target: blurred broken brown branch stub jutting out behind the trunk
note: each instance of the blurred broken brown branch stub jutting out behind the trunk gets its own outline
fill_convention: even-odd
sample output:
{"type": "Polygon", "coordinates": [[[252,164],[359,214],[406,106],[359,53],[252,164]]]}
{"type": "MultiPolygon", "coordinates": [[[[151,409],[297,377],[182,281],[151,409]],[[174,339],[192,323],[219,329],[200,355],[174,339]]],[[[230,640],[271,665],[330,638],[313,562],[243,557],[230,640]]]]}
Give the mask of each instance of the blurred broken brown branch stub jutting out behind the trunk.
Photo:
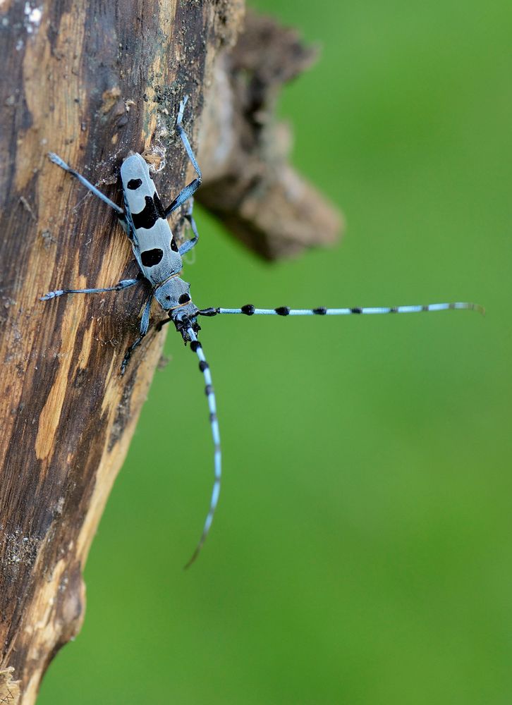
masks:
{"type": "Polygon", "coordinates": [[[249,12],[208,92],[200,140],[205,183],[197,198],[266,259],[329,245],[343,222],[289,166],[291,130],[274,117],[283,85],[316,53],[295,30],[249,12]]]}

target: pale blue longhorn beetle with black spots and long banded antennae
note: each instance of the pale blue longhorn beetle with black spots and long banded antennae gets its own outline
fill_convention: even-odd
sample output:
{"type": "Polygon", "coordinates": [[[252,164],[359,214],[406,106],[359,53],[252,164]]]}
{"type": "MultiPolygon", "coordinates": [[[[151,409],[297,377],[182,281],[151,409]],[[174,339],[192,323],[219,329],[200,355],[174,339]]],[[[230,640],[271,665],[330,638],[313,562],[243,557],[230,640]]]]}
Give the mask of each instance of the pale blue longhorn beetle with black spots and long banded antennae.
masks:
{"type": "Polygon", "coordinates": [[[192,215],[192,208],[193,195],[200,187],[202,180],[199,164],[197,164],[193,149],[190,147],[188,137],[181,125],[187,100],[188,96],[185,96],[180,102],[178,117],[176,118],[176,130],[181,137],[183,146],[195,168],[197,176],[178,193],[176,198],[166,209],[161,205],[157,190],[154,187],[150,175],[149,167],[140,154],[130,152],[128,157],[123,160],[123,164],[121,164],[121,182],[123,184],[123,198],[125,204],[125,210],[123,210],[93,186],[92,183],[87,181],[86,178],[68,166],[63,159],[53,152],[49,153],[49,159],[51,159],[54,164],[57,164],[63,168],[64,171],[70,173],[71,176],[77,178],[80,183],[92,191],[99,199],[114,209],[119,223],[121,223],[121,226],[128,235],[133,254],[140,268],[140,273],[136,278],[122,279],[114,286],[97,289],[58,289],[50,291],[41,297],[42,301],[47,301],[62,296],[63,294],[92,294],[105,291],[120,291],[121,289],[135,286],[145,279],[150,283],[152,291],[147,298],[140,319],[140,335],[135,342],[130,345],[128,350],[126,350],[123,362],[121,362],[121,374],[124,374],[126,371],[126,365],[133,351],[140,345],[149,329],[150,308],[153,297],[156,298],[162,309],[169,315],[169,319],[164,319],[164,321],[157,324],[157,330],[160,330],[164,324],[172,321],[174,326],[176,326],[176,331],[181,333],[185,345],[190,343],[190,349],[193,350],[199,358],[199,369],[205,377],[209,422],[212,428],[214,442],[214,485],[200,540],[192,557],[185,565],[185,568],[188,568],[188,566],[194,562],[202,545],[205,543],[209,529],[212,526],[212,520],[215,509],[217,508],[221,489],[221,443],[219,422],[217,421],[217,405],[214,388],[212,386],[212,375],[209,371],[205,354],[202,351],[201,343],[197,340],[197,333],[200,331],[197,317],[212,317],[218,314],[245,314],[246,316],[348,316],[351,314],[417,313],[423,311],[445,311],[447,309],[470,309],[481,313],[484,312],[484,309],[480,305],[468,302],[339,309],[324,307],[314,309],[290,309],[287,306],[281,306],[275,309],[258,309],[252,304],[248,304],[241,308],[234,309],[214,307],[198,309],[190,298],[190,284],[183,281],[179,276],[182,269],[181,256],[195,247],[199,239],[199,233],[197,232],[197,227],[192,215]],[[169,223],[167,222],[167,218],[186,202],[190,202],[190,206],[184,217],[190,223],[193,238],[185,240],[185,242],[178,247],[169,223]]]}

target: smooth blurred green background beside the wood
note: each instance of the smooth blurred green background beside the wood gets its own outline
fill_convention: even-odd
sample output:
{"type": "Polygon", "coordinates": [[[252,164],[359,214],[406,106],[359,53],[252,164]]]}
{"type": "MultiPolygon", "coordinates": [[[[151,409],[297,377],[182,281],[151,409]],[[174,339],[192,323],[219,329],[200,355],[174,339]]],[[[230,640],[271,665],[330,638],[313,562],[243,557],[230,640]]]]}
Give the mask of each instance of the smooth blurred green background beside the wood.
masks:
{"type": "Polygon", "coordinates": [[[280,111],[348,227],[269,265],[200,213],[195,301],[487,315],[205,320],[224,487],[187,572],[212,445],[171,332],[39,705],[510,704],[511,4],[252,5],[322,47],[280,111]]]}

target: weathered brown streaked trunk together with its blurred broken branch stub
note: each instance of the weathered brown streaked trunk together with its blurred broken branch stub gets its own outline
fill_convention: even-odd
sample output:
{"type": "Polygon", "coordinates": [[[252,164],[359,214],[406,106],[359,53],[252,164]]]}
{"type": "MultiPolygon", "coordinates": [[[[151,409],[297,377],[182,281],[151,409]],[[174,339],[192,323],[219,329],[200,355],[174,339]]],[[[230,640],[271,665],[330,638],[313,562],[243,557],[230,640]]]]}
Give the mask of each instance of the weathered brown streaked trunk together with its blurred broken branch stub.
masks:
{"type": "Polygon", "coordinates": [[[210,96],[202,134],[219,138],[199,145],[204,200],[245,242],[274,257],[331,240],[338,221],[286,166],[282,146],[278,156],[264,148],[276,88],[309,55],[272,25],[269,47],[286,36],[291,49],[278,75],[262,71],[250,41],[262,25],[254,23],[230,56],[242,0],[47,0],[35,8],[6,0],[1,11],[0,700],[27,705],[51,658],[80,630],[87,552],[164,342],[150,333],[121,378],[140,290],[115,305],[102,295],[39,302],[59,286],[108,286],[137,271],[114,214],[47,152],[116,201],[122,158],[144,153],[162,168],[159,192],[171,200],[188,168],[174,129],[178,102],[190,96],[185,122],[194,136],[210,96]],[[242,69],[252,71],[250,92],[240,89],[242,69]],[[295,234],[285,220],[297,223],[295,234]]]}

